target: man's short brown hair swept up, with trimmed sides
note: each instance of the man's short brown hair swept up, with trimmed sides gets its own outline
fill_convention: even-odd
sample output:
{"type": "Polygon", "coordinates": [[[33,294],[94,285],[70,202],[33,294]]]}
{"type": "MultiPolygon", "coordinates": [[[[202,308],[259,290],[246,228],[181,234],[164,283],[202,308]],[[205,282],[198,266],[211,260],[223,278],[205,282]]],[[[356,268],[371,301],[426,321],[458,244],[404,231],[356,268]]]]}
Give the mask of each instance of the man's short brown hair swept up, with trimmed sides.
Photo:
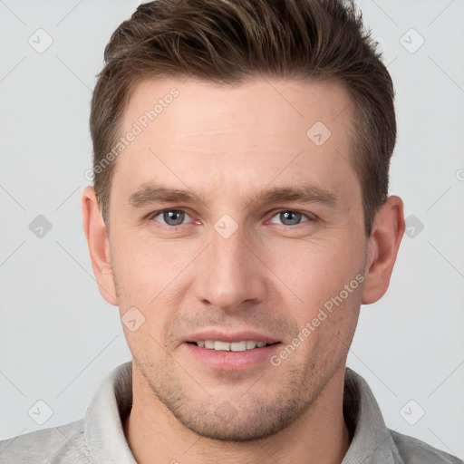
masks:
{"type": "MultiPolygon", "coordinates": [[[[114,162],[102,168],[121,131],[135,86],[156,76],[239,84],[256,76],[340,82],[353,100],[353,163],[364,228],[388,197],[396,140],[391,76],[343,0],[156,0],[140,5],[111,35],[92,96],[94,188],[109,226],[114,162]]],[[[308,128],[309,129],[309,128],[308,128]]]]}

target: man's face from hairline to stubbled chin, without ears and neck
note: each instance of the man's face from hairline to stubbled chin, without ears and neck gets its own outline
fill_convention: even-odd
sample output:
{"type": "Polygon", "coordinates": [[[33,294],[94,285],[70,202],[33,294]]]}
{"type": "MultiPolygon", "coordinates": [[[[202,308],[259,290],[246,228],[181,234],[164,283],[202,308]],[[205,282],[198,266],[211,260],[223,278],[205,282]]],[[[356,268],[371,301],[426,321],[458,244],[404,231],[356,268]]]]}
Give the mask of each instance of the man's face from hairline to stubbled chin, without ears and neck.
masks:
{"type": "Polygon", "coordinates": [[[111,185],[118,304],[147,401],[202,436],[272,435],[344,371],[367,249],[351,116],[330,82],[170,79],[131,97],[121,134],[140,133],[111,185]]]}

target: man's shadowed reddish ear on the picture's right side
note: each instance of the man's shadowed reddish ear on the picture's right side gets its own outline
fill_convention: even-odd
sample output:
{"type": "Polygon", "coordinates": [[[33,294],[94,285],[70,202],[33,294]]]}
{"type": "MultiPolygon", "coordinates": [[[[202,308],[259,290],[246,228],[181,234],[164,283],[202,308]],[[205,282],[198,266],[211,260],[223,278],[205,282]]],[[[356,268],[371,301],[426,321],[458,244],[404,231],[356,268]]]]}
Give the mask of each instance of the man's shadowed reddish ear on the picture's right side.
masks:
{"type": "Polygon", "coordinates": [[[380,300],[387,291],[403,234],[402,200],[391,196],[379,209],[373,221],[364,269],[362,304],[380,300]]]}

